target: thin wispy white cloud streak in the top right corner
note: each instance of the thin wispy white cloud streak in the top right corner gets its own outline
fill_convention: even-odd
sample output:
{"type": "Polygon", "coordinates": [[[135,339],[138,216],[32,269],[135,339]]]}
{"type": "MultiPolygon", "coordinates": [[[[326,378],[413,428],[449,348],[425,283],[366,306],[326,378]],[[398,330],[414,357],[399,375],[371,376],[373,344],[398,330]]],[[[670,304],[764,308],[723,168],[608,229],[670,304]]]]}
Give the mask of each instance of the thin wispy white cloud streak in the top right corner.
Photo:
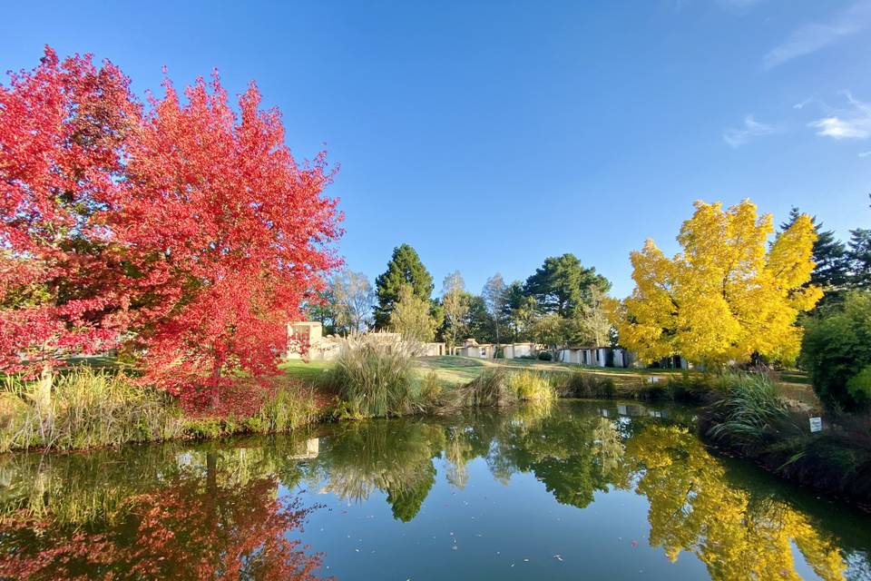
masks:
{"type": "Polygon", "coordinates": [[[839,12],[828,22],[808,23],[798,27],[787,39],[768,51],[763,60],[767,69],[784,64],[797,56],[811,54],[856,34],[871,21],[871,2],[861,0],[839,12]]]}

